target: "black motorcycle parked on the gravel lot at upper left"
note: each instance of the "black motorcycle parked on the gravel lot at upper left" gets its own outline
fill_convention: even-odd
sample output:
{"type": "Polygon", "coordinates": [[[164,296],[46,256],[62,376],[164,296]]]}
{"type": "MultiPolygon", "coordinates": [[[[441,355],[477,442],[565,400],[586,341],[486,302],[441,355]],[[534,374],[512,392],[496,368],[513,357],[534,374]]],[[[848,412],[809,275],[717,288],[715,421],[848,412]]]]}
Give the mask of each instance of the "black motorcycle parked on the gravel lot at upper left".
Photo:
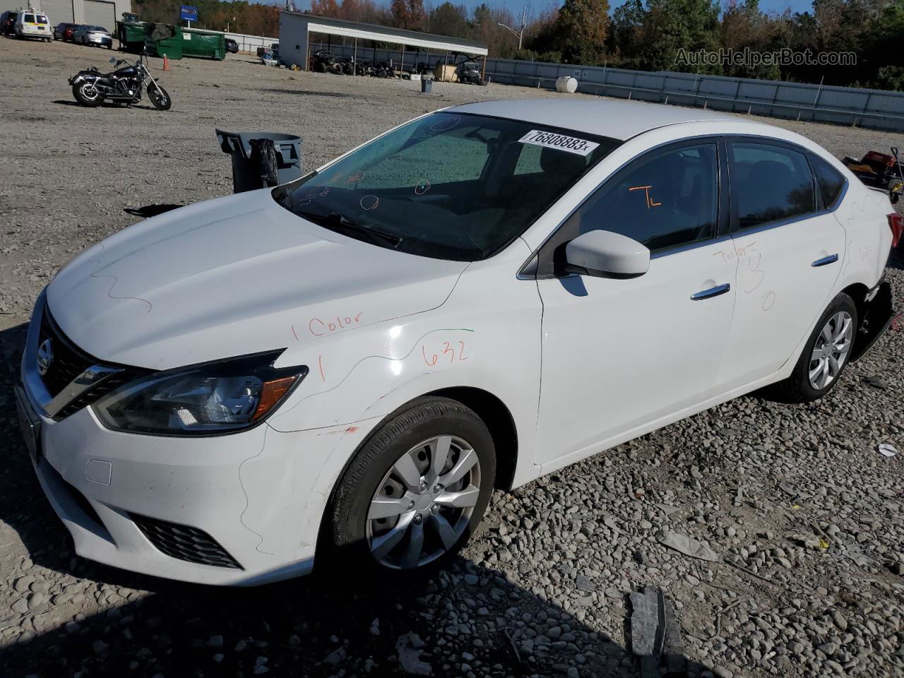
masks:
{"type": "Polygon", "coordinates": [[[124,59],[112,58],[116,71],[101,73],[95,66],[79,71],[69,79],[72,96],[82,106],[99,106],[104,99],[129,106],[141,100],[141,88],[147,83],[147,98],[157,110],[169,110],[173,100],[147,69],[147,53],[141,52],[138,60],[129,64],[124,59]],[[121,64],[127,64],[119,68],[121,64]]]}

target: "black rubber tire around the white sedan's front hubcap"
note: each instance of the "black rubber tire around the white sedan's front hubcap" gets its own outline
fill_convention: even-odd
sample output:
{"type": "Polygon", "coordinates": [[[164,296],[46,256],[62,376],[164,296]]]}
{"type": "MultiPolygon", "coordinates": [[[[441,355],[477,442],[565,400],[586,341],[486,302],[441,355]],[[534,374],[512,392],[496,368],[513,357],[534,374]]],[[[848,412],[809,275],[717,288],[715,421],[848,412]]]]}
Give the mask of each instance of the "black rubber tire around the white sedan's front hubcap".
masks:
{"type": "MultiPolygon", "coordinates": [[[[449,462],[452,461],[450,457],[449,462]]],[[[426,476],[427,472],[423,473],[426,476]]],[[[446,398],[412,400],[393,412],[363,442],[336,484],[333,500],[325,514],[325,532],[320,541],[324,552],[318,553],[318,564],[321,566],[318,570],[327,573],[352,570],[355,572],[354,579],[366,581],[368,578],[361,579],[362,569],[366,569],[370,579],[376,577],[391,582],[400,579],[410,581],[414,574],[428,574],[441,568],[464,546],[483,518],[486,504],[493,492],[494,478],[493,437],[473,410],[457,400],[446,398]],[[440,555],[436,553],[442,549],[434,551],[434,554],[428,556],[434,560],[419,564],[413,569],[394,569],[378,561],[371,552],[368,541],[371,502],[383,479],[400,461],[400,457],[418,447],[420,442],[436,436],[461,438],[476,452],[479,462],[476,467],[479,467],[480,475],[478,498],[470,517],[465,518],[467,523],[463,532],[451,548],[440,555]]],[[[423,524],[425,534],[428,523],[429,520],[423,524]]],[[[407,538],[408,536],[405,539],[407,538]]],[[[433,539],[434,546],[438,545],[437,538],[433,539]]],[[[404,543],[401,542],[400,545],[403,546],[404,543]]]]}

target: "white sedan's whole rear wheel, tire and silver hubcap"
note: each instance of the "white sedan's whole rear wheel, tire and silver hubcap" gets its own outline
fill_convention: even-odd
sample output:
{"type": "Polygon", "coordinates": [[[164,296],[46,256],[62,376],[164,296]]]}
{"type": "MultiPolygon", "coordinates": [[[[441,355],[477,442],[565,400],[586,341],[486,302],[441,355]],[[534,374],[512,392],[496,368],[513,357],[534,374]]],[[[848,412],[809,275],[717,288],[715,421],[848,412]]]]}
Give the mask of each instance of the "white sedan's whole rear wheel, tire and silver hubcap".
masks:
{"type": "Polygon", "coordinates": [[[857,334],[857,306],[846,294],[832,300],[816,323],[804,352],[778,394],[791,402],[810,402],[832,391],[847,366],[857,334]]]}

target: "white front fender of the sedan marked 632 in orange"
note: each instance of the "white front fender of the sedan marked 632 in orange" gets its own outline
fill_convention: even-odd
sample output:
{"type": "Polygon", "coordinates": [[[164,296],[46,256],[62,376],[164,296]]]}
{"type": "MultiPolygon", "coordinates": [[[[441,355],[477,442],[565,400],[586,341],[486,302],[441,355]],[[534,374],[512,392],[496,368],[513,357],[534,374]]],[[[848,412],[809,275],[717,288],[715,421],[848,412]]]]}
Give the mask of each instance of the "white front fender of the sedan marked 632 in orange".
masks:
{"type": "MultiPolygon", "coordinates": [[[[520,264],[529,252],[514,249],[520,264]]],[[[410,400],[469,387],[502,400],[522,441],[519,460],[532,459],[540,297],[535,281],[509,274],[517,264],[494,259],[468,268],[446,303],[431,311],[290,345],[277,366],[306,364],[309,372],[269,425],[279,431],[344,426],[366,433],[410,400]]]]}

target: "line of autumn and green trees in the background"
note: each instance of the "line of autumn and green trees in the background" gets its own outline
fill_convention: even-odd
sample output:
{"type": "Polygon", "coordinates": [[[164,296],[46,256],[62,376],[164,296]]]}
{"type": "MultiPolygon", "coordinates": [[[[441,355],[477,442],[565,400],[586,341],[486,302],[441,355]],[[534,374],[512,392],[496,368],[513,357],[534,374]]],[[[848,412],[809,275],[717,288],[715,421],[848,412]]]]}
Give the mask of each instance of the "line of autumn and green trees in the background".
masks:
{"type": "MultiPolygon", "coordinates": [[[[140,0],[137,0],[140,2],[140,0]]],[[[202,24],[277,35],[274,5],[198,0],[202,24]]],[[[179,0],[145,0],[142,18],[173,23],[179,0]],[[153,19],[148,18],[153,15],[153,19]]],[[[607,65],[640,71],[688,71],[744,78],[904,89],[904,0],[814,0],[807,12],[765,13],[758,0],[564,0],[526,17],[508,7],[424,0],[311,0],[311,14],[485,42],[492,56],[607,65]],[[505,28],[508,26],[509,28],[505,28]],[[509,30],[512,29],[512,30],[509,30]],[[776,59],[687,59],[710,54],[779,54],[776,59]],[[846,54],[821,65],[819,55],[846,54]],[[809,54],[806,60],[801,55],[809,54]]]]}

